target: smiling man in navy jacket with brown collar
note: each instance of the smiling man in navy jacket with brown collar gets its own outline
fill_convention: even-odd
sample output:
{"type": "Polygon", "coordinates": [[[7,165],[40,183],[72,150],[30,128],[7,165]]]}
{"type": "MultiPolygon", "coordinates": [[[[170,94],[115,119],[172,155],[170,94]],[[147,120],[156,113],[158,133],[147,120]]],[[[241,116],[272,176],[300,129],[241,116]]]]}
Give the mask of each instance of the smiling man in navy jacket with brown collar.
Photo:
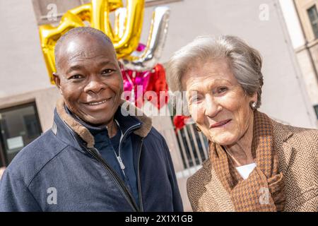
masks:
{"type": "MultiPolygon", "coordinates": [[[[121,100],[110,39],[74,28],[55,47],[63,98],[52,129],[23,148],[0,184],[2,211],[182,211],[167,144],[121,100]]],[[[140,113],[140,112],[139,112],[140,113]]],[[[138,114],[140,115],[140,114],[138,114]]]]}

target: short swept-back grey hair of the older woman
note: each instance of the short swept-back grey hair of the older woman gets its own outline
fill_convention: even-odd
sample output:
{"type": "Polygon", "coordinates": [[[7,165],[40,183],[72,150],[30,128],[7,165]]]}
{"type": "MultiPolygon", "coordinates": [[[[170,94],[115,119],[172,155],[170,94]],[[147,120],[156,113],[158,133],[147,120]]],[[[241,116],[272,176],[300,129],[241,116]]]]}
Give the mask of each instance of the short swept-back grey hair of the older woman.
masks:
{"type": "Polygon", "coordinates": [[[261,106],[261,55],[239,37],[201,36],[179,49],[167,64],[167,83],[170,90],[182,90],[182,76],[199,62],[228,59],[232,73],[247,95],[257,93],[257,107],[261,106]]]}

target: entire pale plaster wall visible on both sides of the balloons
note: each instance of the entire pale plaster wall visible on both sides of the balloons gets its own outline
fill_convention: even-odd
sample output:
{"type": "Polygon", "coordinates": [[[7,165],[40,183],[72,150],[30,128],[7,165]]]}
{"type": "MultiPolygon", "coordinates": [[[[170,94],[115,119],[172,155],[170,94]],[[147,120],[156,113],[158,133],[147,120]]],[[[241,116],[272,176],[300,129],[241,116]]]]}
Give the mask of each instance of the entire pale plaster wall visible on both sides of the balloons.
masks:
{"type": "MultiPolygon", "coordinates": [[[[314,127],[302,78],[277,0],[184,0],[170,4],[167,42],[161,62],[197,35],[237,35],[264,57],[261,111],[295,126],[314,127]],[[269,20],[259,20],[267,4],[269,20]]],[[[152,8],[146,9],[145,20],[152,8]]],[[[40,49],[31,0],[0,0],[0,97],[52,87],[40,49]]],[[[148,31],[145,21],[144,30],[148,31]]],[[[148,34],[144,32],[143,40],[148,34]]]]}

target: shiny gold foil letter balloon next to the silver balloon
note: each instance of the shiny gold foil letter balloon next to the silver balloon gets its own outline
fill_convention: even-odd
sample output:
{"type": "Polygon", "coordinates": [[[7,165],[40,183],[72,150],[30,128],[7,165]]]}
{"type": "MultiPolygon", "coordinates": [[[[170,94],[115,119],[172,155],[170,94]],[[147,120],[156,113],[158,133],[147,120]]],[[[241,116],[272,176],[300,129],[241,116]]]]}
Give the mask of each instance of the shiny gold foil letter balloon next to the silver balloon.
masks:
{"type": "Polygon", "coordinates": [[[70,11],[82,20],[88,20],[92,28],[105,32],[114,44],[117,57],[122,58],[134,52],[138,47],[145,0],[127,0],[126,4],[124,23],[119,24],[118,20],[115,20],[115,32],[110,23],[110,12],[122,8],[122,0],[92,0],[90,4],[78,6],[70,11]],[[119,30],[122,30],[120,35],[119,30]]]}

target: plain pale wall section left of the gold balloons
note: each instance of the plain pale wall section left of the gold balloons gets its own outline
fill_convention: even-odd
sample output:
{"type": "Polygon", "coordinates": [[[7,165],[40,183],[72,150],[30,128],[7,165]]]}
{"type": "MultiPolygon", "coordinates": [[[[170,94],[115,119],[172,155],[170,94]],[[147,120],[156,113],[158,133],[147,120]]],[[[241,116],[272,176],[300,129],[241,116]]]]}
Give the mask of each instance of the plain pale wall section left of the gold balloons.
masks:
{"type": "Polygon", "coordinates": [[[31,0],[0,0],[0,97],[51,87],[31,0]]]}

